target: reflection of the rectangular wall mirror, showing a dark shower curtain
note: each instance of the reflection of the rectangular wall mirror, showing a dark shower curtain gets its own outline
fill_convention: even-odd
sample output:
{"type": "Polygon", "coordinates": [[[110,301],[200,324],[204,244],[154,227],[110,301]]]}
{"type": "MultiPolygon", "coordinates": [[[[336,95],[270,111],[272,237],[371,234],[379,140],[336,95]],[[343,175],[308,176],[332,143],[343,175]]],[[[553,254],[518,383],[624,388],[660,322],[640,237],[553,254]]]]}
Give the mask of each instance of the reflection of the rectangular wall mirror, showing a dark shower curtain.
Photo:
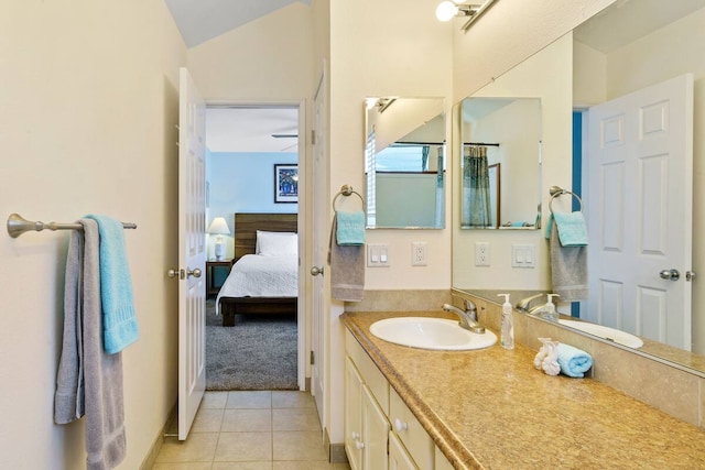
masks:
{"type": "Polygon", "coordinates": [[[541,99],[466,98],[460,124],[460,228],[539,228],[541,99]]]}

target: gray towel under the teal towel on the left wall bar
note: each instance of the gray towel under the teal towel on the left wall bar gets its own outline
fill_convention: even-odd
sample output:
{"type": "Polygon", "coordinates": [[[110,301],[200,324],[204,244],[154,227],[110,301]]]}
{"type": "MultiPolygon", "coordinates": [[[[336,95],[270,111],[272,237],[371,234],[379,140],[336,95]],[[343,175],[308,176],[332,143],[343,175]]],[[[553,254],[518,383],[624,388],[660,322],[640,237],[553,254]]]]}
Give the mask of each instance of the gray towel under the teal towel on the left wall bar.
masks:
{"type": "Polygon", "coordinates": [[[127,453],[122,397],[122,354],[102,345],[99,236],[95,220],[72,231],[64,292],[64,341],[57,374],[54,419],[86,415],[89,470],[116,468],[127,453]]]}

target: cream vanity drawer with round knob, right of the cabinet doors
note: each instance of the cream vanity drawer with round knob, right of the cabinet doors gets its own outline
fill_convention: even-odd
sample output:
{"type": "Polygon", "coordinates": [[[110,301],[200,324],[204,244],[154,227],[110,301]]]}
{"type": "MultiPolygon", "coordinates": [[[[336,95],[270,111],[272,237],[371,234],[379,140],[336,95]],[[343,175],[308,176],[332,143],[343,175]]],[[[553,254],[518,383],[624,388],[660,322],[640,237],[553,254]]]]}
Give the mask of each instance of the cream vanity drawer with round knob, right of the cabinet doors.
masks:
{"type": "Polygon", "coordinates": [[[392,429],[399,436],[406,451],[416,462],[420,469],[433,469],[434,444],[431,436],[421,426],[419,419],[411,413],[397,391],[389,392],[389,420],[392,429]]]}

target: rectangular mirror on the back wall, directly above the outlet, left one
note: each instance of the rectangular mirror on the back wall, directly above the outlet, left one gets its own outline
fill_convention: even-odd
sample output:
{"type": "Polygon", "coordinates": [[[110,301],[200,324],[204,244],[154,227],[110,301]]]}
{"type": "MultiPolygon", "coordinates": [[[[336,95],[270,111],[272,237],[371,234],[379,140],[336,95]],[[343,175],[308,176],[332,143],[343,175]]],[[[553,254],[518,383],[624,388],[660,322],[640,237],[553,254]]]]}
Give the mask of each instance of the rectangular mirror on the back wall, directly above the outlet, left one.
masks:
{"type": "Polygon", "coordinates": [[[365,102],[368,229],[445,227],[443,98],[365,102]]]}

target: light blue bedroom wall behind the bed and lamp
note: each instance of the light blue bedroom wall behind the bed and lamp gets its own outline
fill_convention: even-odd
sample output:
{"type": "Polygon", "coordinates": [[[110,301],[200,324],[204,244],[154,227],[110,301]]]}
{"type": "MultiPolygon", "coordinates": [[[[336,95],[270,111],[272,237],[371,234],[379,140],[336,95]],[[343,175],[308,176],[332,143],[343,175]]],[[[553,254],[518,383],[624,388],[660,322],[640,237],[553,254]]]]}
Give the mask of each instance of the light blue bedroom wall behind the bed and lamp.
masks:
{"type": "MultiPolygon", "coordinates": [[[[223,237],[225,258],[235,256],[235,212],[296,212],[297,204],[274,203],[274,165],[296,164],[296,153],[210,152],[208,155],[208,220],[224,217],[231,236],[223,237]]],[[[209,236],[208,255],[213,256],[209,236]]]]}

